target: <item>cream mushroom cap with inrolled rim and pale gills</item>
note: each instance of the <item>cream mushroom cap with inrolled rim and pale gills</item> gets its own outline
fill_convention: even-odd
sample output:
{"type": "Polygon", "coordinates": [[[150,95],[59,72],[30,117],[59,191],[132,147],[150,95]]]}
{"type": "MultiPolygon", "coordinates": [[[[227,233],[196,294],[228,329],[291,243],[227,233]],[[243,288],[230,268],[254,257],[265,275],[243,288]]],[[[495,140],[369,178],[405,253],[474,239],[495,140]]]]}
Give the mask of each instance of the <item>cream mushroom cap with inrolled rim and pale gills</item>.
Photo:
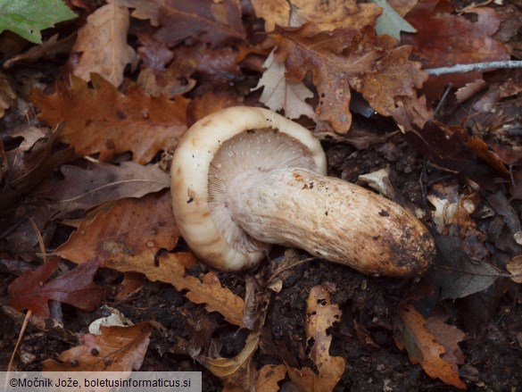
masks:
{"type": "Polygon", "coordinates": [[[237,176],[281,167],[326,174],[327,160],[308,129],[278,113],[230,107],[186,131],[172,159],[170,185],[178,229],[198,257],[222,271],[251,268],[266,257],[270,246],[228,214],[227,189],[237,176]]]}

